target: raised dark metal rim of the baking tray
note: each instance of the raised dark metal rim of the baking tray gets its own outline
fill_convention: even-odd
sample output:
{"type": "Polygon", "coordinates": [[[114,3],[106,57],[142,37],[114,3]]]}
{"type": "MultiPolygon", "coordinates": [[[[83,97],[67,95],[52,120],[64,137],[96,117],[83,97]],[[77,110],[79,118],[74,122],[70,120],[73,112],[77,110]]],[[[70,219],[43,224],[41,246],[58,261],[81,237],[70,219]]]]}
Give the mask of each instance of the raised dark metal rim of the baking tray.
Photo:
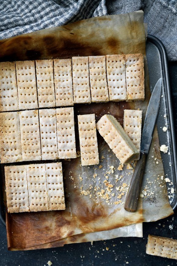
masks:
{"type": "MultiPolygon", "coordinates": [[[[165,86],[164,88],[167,91],[167,104],[168,104],[168,110],[169,110],[169,122],[171,125],[171,131],[169,134],[171,135],[171,139],[173,141],[172,145],[172,158],[173,158],[173,164],[172,164],[172,173],[173,173],[173,180],[174,180],[174,186],[175,190],[177,191],[177,153],[176,153],[176,141],[175,141],[175,128],[174,128],[174,119],[173,119],[173,111],[172,109],[169,108],[169,106],[172,106],[172,97],[171,97],[171,89],[170,89],[170,82],[169,82],[169,74],[168,74],[168,58],[167,58],[167,53],[165,50],[165,47],[163,43],[156,38],[153,35],[147,35],[147,41],[152,42],[155,46],[157,46],[159,50],[159,54],[161,57],[161,67],[162,67],[162,77],[163,81],[165,81],[165,86]]],[[[2,188],[2,179],[0,180],[0,186],[2,188]]],[[[0,189],[0,221],[1,223],[6,226],[5,224],[5,215],[4,215],[4,203],[3,203],[3,195],[2,195],[2,190],[0,189]]],[[[175,197],[173,198],[173,201],[171,202],[171,206],[173,211],[177,208],[177,194],[175,193],[175,197]]]]}

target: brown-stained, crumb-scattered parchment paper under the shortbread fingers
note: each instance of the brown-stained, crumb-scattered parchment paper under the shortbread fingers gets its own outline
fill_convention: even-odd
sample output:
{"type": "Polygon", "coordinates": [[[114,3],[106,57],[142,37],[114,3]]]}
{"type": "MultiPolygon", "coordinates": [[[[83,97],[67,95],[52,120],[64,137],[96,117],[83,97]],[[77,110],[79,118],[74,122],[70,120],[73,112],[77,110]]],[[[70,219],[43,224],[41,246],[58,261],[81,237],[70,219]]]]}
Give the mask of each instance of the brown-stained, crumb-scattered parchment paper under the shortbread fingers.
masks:
{"type": "MultiPolygon", "coordinates": [[[[0,41],[0,48],[0,61],[143,53],[145,56],[145,101],[75,105],[76,143],[78,144],[78,114],[95,113],[96,120],[99,120],[103,114],[110,113],[123,124],[124,109],[140,108],[143,110],[144,119],[150,90],[145,54],[143,12],[94,17],[66,26],[16,36],[0,41]]],[[[151,186],[148,188],[149,191],[152,190],[152,193],[154,193],[154,189],[157,192],[154,194],[143,192],[143,209],[140,198],[135,213],[126,212],[123,208],[132,169],[129,170],[124,167],[123,171],[117,170],[118,159],[99,133],[97,136],[100,158],[98,166],[81,167],[80,157],[70,161],[62,161],[65,211],[15,214],[6,212],[9,250],[63,246],[65,243],[114,238],[121,236],[121,234],[128,236],[133,234],[133,230],[137,227],[131,224],[158,220],[173,213],[168,202],[165,180],[161,179],[164,173],[157,130],[154,132],[149,154],[150,159],[147,161],[143,180],[143,187],[146,189],[147,185],[150,186],[149,180],[152,179],[155,182],[159,175],[160,178],[157,182],[151,182],[151,186]],[[154,155],[151,154],[155,154],[157,157],[158,165],[156,161],[154,163],[155,157],[152,158],[151,156],[154,155]],[[107,191],[105,180],[107,180],[108,185],[113,185],[110,188],[112,190],[108,201],[98,195],[101,189],[107,191]],[[121,193],[123,195],[120,198],[121,193]],[[118,204],[115,204],[116,202],[118,204]],[[95,234],[94,232],[98,233],[95,234]]],[[[137,235],[138,231],[137,229],[137,235]]]]}

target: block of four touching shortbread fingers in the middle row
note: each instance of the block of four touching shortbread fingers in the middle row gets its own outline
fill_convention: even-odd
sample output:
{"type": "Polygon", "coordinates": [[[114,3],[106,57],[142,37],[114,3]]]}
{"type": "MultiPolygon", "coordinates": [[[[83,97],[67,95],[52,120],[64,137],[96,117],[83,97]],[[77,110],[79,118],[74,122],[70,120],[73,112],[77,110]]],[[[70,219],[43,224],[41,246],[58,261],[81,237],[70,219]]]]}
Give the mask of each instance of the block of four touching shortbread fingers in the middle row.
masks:
{"type": "Polygon", "coordinates": [[[1,163],[76,158],[74,109],[0,113],[1,163]]]}

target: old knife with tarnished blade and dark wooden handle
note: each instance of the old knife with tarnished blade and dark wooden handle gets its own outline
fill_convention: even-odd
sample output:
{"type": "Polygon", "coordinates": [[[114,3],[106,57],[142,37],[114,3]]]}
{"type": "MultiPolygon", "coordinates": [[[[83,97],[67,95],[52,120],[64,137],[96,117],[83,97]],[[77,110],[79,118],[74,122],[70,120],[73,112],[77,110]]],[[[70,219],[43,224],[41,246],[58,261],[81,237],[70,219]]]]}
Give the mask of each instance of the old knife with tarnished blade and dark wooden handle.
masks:
{"type": "Polygon", "coordinates": [[[130,186],[125,199],[124,209],[129,212],[135,212],[137,209],[139,192],[144,174],[147,154],[153,137],[154,127],[156,124],[160,102],[161,102],[162,78],[160,78],[151,94],[146,117],[143,126],[141,138],[140,158],[137,161],[134,173],[132,175],[130,186]]]}

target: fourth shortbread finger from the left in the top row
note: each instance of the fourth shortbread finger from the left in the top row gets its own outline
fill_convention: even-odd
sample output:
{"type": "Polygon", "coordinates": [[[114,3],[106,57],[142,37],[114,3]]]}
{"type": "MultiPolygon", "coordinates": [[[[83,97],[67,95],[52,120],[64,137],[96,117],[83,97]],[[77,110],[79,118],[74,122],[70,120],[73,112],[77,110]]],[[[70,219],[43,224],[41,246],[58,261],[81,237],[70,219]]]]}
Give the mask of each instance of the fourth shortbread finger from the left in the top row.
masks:
{"type": "Polygon", "coordinates": [[[56,106],[74,105],[71,59],[54,59],[53,63],[56,106]]]}

